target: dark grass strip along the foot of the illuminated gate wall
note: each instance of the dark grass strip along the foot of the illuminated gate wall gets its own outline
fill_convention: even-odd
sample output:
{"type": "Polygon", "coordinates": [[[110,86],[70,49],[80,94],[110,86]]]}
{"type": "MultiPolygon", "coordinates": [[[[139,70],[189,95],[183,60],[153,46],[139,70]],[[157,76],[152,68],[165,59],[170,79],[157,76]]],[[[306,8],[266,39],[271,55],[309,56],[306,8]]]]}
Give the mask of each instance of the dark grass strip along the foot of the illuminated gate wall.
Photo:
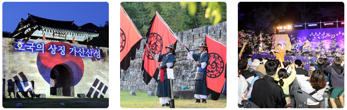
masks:
{"type": "Polygon", "coordinates": [[[109,99],[104,98],[23,98],[23,99],[4,99],[3,108],[17,108],[17,103],[22,103],[22,108],[108,108],[109,99]],[[61,105],[60,103],[64,103],[61,105]]]}

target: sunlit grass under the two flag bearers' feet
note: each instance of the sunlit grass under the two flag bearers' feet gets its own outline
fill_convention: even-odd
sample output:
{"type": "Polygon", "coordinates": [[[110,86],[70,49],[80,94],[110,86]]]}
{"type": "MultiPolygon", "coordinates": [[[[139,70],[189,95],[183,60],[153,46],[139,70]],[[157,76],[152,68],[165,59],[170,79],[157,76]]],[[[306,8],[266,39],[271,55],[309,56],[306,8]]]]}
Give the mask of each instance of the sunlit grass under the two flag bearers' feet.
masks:
{"type": "MultiPolygon", "coordinates": [[[[160,107],[159,98],[148,96],[147,92],[135,91],[136,96],[130,96],[130,91],[120,91],[121,108],[163,108],[160,107]]],[[[156,93],[156,92],[154,92],[156,93]]],[[[217,101],[207,99],[207,103],[194,103],[195,99],[175,99],[175,108],[225,108],[227,99],[217,101]]],[[[169,108],[169,107],[164,107],[169,108]]]]}

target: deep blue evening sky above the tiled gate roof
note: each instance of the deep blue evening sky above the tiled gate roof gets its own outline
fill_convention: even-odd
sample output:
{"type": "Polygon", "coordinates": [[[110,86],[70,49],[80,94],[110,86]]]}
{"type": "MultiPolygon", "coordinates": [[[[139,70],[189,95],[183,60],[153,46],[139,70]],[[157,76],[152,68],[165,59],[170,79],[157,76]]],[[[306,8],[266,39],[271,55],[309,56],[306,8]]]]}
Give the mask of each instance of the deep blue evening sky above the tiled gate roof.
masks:
{"type": "Polygon", "coordinates": [[[20,19],[27,19],[28,13],[37,17],[75,21],[77,26],[93,23],[104,26],[109,21],[107,2],[3,2],[2,30],[13,32],[20,19]]]}

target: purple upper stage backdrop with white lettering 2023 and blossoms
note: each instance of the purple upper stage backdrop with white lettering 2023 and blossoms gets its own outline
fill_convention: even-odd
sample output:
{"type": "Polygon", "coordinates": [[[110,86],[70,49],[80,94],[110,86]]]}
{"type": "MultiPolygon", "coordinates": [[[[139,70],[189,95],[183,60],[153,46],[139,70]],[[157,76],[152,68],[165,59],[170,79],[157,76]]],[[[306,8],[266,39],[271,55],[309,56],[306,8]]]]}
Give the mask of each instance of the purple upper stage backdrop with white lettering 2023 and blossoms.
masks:
{"type": "Polygon", "coordinates": [[[345,49],[345,28],[288,30],[292,49],[345,49]]]}

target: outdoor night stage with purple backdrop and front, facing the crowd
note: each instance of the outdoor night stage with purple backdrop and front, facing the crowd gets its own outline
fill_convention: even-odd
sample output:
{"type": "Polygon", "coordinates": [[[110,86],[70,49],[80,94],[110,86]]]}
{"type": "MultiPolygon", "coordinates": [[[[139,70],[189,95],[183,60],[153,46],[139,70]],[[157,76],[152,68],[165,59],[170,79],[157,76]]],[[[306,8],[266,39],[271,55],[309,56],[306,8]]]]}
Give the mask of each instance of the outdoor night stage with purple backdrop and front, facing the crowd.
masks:
{"type": "MultiPolygon", "coordinates": [[[[310,54],[311,59],[316,61],[316,55],[336,56],[344,55],[345,49],[345,33],[344,27],[341,28],[321,28],[321,29],[302,29],[302,30],[287,30],[285,34],[272,36],[271,49],[277,48],[277,44],[282,44],[283,50],[290,50],[293,56],[285,56],[285,64],[287,62],[294,63],[296,59],[303,62],[306,70],[310,67],[308,56],[301,56],[304,53],[310,54]]],[[[253,44],[255,45],[255,44],[253,44]]],[[[268,50],[269,51],[269,50],[268,50]]],[[[267,51],[266,51],[267,52],[267,51]]],[[[258,52],[259,53],[259,52],[258,52]]],[[[270,53],[248,54],[251,55],[252,61],[256,58],[276,58],[270,53]]],[[[248,56],[247,55],[247,56],[248,56]]],[[[327,57],[332,64],[334,57],[327,57]]],[[[341,57],[344,59],[343,57],[341,57]]]]}

